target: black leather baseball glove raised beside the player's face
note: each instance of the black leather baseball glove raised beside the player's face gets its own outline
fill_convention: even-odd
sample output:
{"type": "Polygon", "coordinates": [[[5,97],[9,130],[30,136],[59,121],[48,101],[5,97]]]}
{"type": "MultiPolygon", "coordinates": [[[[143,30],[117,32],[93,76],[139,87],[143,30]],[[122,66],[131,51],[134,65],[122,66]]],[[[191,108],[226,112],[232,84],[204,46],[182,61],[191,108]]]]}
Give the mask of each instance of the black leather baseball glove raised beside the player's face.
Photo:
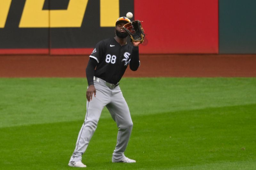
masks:
{"type": "Polygon", "coordinates": [[[132,41],[144,41],[145,33],[139,20],[129,22],[123,26],[124,30],[129,34],[132,41]]]}

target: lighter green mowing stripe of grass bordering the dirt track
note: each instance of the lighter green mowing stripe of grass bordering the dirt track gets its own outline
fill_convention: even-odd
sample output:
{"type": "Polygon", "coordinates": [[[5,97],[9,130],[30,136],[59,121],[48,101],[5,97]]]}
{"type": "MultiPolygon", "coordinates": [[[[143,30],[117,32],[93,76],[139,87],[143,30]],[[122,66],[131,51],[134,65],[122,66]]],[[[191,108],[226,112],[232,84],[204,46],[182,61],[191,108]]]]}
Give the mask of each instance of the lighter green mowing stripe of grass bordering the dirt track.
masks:
{"type": "MultiPolygon", "coordinates": [[[[123,78],[132,115],[256,103],[256,78],[123,78]]],[[[84,120],[85,78],[0,78],[0,128],[84,120]]],[[[101,119],[109,118],[107,109],[101,119]]]]}

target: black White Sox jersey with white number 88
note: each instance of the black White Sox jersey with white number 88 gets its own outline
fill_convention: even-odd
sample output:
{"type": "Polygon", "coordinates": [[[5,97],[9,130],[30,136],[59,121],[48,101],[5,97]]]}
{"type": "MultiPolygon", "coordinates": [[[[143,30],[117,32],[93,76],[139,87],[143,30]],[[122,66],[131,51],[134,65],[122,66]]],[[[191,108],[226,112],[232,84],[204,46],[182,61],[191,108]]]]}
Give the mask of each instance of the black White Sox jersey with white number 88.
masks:
{"type": "Polygon", "coordinates": [[[137,70],[139,61],[139,47],[130,44],[121,46],[115,38],[102,40],[90,55],[90,59],[97,61],[94,76],[109,83],[116,84],[130,65],[131,70],[137,70]]]}

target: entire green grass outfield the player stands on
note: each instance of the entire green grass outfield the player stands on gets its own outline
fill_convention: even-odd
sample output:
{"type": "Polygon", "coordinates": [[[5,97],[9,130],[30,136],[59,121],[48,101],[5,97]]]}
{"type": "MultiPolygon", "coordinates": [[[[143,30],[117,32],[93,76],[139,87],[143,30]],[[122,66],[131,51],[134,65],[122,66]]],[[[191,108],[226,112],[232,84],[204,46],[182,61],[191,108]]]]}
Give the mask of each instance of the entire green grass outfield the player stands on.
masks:
{"type": "MultiPolygon", "coordinates": [[[[117,127],[104,109],[87,169],[256,169],[256,78],[123,78],[133,131],[111,163],[117,127]]],[[[0,169],[68,166],[85,116],[83,78],[0,78],[0,169]]]]}

